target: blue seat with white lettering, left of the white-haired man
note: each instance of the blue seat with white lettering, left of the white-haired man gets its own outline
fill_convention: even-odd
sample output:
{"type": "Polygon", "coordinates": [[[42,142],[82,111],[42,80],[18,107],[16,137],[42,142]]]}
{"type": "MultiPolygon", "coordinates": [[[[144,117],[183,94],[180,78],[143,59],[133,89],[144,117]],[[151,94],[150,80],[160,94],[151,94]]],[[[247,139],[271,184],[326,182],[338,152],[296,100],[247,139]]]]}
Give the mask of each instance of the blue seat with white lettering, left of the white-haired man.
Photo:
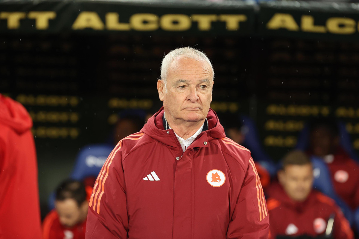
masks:
{"type": "MultiPolygon", "coordinates": [[[[83,147],[76,157],[70,178],[82,181],[89,176],[97,177],[112,149],[111,144],[92,144],[83,147]]],[[[49,196],[48,207],[50,210],[55,208],[55,192],[49,196]]]]}

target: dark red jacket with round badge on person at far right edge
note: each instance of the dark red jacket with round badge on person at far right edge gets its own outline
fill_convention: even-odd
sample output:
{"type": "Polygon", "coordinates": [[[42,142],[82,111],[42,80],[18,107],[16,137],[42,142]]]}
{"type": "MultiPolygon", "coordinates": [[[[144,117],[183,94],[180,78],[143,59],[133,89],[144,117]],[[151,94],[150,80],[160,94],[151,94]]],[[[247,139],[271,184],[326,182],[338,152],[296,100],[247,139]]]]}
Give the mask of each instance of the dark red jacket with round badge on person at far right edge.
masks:
{"type": "Polygon", "coordinates": [[[359,206],[359,165],[343,149],[327,156],[327,163],[336,193],[352,208],[359,206]]]}

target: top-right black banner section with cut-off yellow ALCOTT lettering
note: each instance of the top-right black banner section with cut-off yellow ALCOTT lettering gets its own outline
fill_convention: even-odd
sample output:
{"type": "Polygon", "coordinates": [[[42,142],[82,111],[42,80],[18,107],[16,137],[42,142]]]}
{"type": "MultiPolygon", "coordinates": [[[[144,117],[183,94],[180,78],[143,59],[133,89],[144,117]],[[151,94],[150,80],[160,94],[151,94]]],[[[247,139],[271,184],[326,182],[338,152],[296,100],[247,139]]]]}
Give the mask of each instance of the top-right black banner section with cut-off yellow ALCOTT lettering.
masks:
{"type": "Polygon", "coordinates": [[[270,1],[260,5],[258,31],[266,36],[358,39],[359,6],[270,1]]]}

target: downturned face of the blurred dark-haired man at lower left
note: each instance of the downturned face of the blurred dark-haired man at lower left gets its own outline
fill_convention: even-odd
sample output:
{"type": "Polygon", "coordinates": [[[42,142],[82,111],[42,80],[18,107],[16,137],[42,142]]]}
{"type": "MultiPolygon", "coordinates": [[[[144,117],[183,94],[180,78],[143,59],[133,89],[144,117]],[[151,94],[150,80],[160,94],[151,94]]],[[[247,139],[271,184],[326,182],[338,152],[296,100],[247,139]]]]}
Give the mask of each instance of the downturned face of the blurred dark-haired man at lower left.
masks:
{"type": "Polygon", "coordinates": [[[84,219],[83,206],[78,206],[74,199],[55,201],[55,207],[59,214],[60,223],[67,228],[73,227],[84,219]]]}

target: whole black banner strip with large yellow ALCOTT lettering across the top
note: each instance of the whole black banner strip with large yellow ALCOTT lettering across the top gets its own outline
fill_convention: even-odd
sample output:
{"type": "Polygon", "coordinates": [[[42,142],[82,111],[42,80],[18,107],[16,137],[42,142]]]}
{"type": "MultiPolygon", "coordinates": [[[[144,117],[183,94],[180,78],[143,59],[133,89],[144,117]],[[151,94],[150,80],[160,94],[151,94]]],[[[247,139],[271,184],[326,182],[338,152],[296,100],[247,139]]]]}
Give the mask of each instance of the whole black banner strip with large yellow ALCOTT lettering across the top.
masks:
{"type": "Polygon", "coordinates": [[[9,1],[0,34],[150,33],[358,39],[359,5],[304,1],[9,1]]]}

